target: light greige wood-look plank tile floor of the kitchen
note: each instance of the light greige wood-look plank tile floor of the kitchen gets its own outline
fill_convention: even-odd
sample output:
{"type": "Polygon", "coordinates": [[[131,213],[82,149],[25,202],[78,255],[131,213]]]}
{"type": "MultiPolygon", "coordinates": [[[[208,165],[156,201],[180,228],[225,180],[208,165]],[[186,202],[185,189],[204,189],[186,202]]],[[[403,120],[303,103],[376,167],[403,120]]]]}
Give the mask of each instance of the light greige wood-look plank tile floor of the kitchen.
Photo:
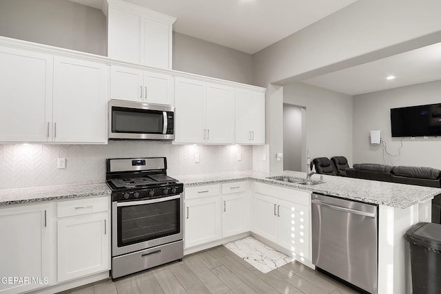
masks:
{"type": "Polygon", "coordinates": [[[355,294],[351,288],[289,262],[262,273],[224,246],[186,255],[182,262],[164,264],[112,282],[105,280],[66,293],[74,294],[176,294],[176,293],[298,293],[355,294]]]}

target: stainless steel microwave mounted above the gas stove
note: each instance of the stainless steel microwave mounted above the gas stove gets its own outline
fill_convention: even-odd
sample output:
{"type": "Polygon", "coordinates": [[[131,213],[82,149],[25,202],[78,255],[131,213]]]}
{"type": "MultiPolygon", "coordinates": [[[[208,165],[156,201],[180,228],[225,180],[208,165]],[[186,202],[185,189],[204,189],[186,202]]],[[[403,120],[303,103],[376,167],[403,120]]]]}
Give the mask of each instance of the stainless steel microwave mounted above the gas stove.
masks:
{"type": "Polygon", "coordinates": [[[109,139],[174,140],[174,107],[110,100],[109,139]]]}

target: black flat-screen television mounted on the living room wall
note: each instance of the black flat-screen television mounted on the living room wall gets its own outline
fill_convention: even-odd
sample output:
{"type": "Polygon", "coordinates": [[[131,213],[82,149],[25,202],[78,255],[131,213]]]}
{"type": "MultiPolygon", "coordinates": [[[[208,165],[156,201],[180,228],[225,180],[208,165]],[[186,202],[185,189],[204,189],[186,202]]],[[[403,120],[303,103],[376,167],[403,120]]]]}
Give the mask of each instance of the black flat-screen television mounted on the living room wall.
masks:
{"type": "Polygon", "coordinates": [[[391,109],[392,137],[441,136],[441,103],[391,109]]]}

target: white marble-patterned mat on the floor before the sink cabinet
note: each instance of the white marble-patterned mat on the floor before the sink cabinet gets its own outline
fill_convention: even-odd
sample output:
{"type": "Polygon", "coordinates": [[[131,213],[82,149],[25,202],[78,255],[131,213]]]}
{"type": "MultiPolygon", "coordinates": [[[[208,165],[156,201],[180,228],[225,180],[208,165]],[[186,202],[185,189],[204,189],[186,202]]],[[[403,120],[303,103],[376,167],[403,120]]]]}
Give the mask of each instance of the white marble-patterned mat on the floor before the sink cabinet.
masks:
{"type": "Polygon", "coordinates": [[[229,242],[224,246],[262,273],[268,273],[293,261],[289,256],[272,249],[251,236],[229,242]]]}

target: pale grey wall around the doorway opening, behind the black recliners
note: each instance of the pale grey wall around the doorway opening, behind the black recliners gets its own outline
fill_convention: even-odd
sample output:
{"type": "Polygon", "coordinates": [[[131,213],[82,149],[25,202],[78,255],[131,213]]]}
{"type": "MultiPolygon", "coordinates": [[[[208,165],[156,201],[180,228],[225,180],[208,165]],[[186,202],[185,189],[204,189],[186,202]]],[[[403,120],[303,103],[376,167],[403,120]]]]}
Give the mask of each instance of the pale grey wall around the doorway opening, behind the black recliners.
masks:
{"type": "Polygon", "coordinates": [[[351,164],[352,96],[291,83],[283,87],[283,102],[306,108],[306,147],[311,158],[345,156],[351,164]]]}

